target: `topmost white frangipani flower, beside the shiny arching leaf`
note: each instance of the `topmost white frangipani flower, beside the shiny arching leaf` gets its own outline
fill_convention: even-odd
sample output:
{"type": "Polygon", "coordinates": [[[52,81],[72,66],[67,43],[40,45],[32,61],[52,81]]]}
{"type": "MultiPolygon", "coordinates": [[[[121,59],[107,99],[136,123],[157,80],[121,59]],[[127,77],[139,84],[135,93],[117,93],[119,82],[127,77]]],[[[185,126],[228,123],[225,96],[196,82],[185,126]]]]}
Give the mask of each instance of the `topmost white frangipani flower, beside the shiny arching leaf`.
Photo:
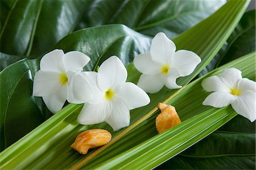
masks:
{"type": "Polygon", "coordinates": [[[169,89],[181,88],[176,79],[191,74],[201,59],[192,51],[175,51],[174,42],[162,32],[156,34],[150,52],[134,58],[135,67],[143,73],[138,86],[149,93],[158,92],[164,85],[169,89]]]}

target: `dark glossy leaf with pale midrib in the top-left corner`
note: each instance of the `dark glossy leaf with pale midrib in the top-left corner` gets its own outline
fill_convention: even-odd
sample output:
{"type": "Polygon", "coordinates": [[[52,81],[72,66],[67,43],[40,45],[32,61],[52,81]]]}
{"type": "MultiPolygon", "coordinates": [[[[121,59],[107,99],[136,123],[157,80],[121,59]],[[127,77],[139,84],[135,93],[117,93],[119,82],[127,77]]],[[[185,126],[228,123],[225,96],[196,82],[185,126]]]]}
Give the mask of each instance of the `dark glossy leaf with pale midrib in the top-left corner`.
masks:
{"type": "Polygon", "coordinates": [[[1,52],[26,57],[45,52],[73,31],[86,3],[15,0],[1,30],[1,52]]]}

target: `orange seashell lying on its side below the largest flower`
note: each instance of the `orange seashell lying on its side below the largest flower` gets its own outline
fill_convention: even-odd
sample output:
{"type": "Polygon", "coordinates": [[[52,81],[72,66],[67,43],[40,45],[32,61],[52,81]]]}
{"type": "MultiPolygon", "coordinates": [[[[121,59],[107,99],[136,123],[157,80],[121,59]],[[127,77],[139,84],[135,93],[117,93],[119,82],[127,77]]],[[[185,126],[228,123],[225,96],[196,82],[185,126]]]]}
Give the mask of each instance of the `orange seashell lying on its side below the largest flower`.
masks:
{"type": "Polygon", "coordinates": [[[103,129],[86,130],[77,135],[71,147],[80,154],[87,154],[89,149],[100,147],[108,143],[111,138],[110,132],[103,129]]]}

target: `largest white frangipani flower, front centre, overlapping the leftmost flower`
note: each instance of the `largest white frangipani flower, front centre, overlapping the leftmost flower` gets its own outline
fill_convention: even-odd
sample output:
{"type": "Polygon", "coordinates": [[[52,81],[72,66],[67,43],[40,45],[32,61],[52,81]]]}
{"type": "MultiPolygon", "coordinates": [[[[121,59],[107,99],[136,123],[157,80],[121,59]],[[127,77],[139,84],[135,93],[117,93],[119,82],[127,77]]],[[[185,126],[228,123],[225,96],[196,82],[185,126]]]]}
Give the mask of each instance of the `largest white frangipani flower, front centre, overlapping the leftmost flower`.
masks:
{"type": "MultiPolygon", "coordinates": [[[[77,118],[82,125],[106,122],[114,131],[129,126],[130,110],[142,107],[150,102],[150,98],[141,88],[132,82],[126,82],[127,71],[121,60],[116,56],[104,61],[96,72],[82,72],[73,77],[73,86],[90,82],[93,99],[86,102],[85,98],[69,102],[85,103],[77,118]],[[82,79],[81,77],[84,77],[82,79]]],[[[74,93],[74,96],[77,96],[74,93]]]]}

